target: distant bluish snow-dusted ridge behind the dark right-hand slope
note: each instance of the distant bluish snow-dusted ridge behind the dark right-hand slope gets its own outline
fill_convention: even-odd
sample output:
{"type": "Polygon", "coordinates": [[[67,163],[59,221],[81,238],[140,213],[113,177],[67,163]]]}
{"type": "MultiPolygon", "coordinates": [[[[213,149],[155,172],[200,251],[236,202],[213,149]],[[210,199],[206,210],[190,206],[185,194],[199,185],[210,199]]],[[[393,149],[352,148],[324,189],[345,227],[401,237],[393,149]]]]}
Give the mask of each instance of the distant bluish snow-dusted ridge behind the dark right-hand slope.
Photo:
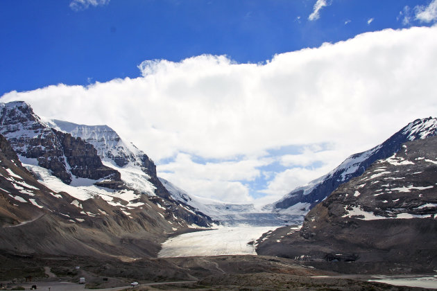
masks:
{"type": "Polygon", "coordinates": [[[338,186],[363,174],[374,161],[391,157],[400,150],[402,143],[415,139],[425,139],[429,136],[436,136],[436,134],[437,118],[417,119],[393,134],[384,143],[366,152],[348,157],[327,175],[315,179],[305,186],[295,188],[281,200],[266,206],[266,209],[280,213],[298,214],[300,212],[301,215],[305,215],[309,209],[323,201],[338,186]]]}

